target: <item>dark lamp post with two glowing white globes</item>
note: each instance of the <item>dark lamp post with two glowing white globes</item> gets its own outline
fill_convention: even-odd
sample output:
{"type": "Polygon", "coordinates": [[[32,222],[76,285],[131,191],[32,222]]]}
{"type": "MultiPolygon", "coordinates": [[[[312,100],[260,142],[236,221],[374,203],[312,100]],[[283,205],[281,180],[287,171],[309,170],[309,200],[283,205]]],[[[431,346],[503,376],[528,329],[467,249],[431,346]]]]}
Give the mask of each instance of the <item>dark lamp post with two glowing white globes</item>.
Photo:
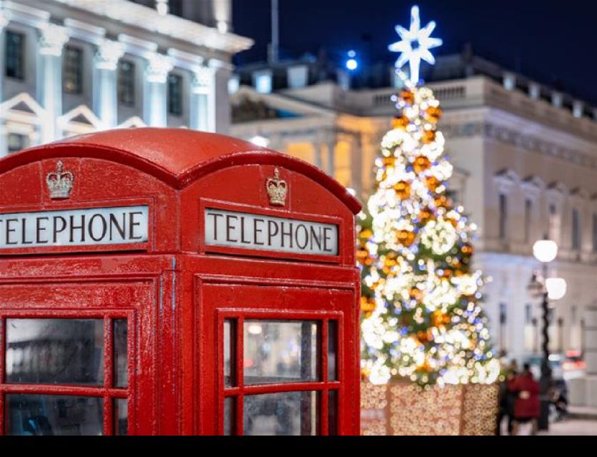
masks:
{"type": "Polygon", "coordinates": [[[533,256],[542,263],[542,271],[533,273],[528,291],[533,298],[542,298],[543,311],[543,358],[541,359],[541,413],[538,421],[539,430],[549,429],[549,387],[551,386],[551,368],[549,366],[549,301],[560,300],[566,295],[566,281],[563,278],[548,278],[548,263],[558,256],[555,241],[543,239],[533,246],[533,256]]]}

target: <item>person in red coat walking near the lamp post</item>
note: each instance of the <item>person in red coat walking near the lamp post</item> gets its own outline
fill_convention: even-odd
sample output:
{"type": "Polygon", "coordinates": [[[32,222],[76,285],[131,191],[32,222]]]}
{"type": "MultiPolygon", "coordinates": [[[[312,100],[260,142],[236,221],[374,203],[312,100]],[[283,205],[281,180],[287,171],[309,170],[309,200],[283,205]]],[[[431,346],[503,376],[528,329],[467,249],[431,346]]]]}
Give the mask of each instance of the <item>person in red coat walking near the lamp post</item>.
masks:
{"type": "Polygon", "coordinates": [[[541,411],[539,403],[540,387],[539,383],[533,378],[531,366],[528,363],[525,363],[523,371],[508,383],[508,391],[516,396],[512,434],[518,435],[521,432],[521,425],[528,424],[531,427],[531,435],[536,435],[537,421],[541,411]]]}

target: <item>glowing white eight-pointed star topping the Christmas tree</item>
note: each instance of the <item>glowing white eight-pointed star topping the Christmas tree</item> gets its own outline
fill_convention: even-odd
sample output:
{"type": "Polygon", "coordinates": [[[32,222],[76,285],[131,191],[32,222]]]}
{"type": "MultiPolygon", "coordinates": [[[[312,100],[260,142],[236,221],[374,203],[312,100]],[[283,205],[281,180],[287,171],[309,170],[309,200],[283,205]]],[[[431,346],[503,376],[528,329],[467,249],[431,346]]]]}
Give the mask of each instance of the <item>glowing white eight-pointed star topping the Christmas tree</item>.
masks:
{"type": "Polygon", "coordinates": [[[435,64],[436,59],[429,49],[441,46],[442,41],[438,38],[431,38],[433,29],[436,28],[435,21],[421,29],[421,19],[418,16],[418,6],[411,9],[411,29],[396,26],[396,31],[400,35],[401,41],[391,44],[388,49],[392,52],[400,52],[396,61],[396,69],[401,69],[406,62],[411,67],[411,82],[418,84],[418,68],[421,66],[421,59],[429,64],[435,64]]]}

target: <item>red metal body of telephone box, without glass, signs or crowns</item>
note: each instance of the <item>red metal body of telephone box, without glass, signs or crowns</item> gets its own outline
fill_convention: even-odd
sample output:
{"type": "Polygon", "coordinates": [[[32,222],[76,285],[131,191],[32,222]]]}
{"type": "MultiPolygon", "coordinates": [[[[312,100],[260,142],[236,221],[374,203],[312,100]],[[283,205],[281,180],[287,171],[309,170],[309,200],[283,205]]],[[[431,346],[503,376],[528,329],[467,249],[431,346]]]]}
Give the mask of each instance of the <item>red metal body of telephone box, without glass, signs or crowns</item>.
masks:
{"type": "Polygon", "coordinates": [[[353,217],[358,202],[315,167],[224,136],[182,129],[126,129],[41,146],[0,160],[0,214],[149,206],[143,246],[0,249],[0,433],[4,394],[104,398],[113,433],[114,398],[127,398],[129,433],[223,433],[224,395],[236,398],[243,431],[244,395],[321,393],[328,433],[328,392],[338,391],[338,433],[358,434],[358,286],[353,217]],[[58,161],[74,176],[69,199],[51,199],[46,175],[58,161]],[[274,170],[288,184],[286,205],[266,192],[274,170]],[[209,249],[206,202],[221,209],[338,225],[338,256],[209,249]],[[216,252],[217,251],[217,252],[216,252]],[[103,318],[104,386],[5,382],[6,316],[103,318]],[[236,318],[236,387],[224,388],[221,322],[236,318]],[[321,378],[309,383],[244,386],[243,319],[316,320],[321,378]],[[129,386],[115,388],[112,323],[128,319],[129,386]],[[338,321],[338,381],[327,378],[328,320],[338,321]]]}

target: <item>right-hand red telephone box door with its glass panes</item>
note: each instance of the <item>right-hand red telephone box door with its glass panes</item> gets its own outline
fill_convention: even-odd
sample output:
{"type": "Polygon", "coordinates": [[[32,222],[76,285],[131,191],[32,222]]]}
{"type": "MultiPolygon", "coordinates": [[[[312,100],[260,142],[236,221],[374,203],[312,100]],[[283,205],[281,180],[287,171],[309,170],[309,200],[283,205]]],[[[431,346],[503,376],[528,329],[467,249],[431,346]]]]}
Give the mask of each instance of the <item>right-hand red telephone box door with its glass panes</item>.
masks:
{"type": "Polygon", "coordinates": [[[211,360],[201,366],[217,367],[201,373],[216,392],[200,396],[204,433],[355,433],[347,401],[358,398],[358,379],[348,378],[358,373],[354,297],[340,288],[204,284],[200,341],[211,360]]]}

